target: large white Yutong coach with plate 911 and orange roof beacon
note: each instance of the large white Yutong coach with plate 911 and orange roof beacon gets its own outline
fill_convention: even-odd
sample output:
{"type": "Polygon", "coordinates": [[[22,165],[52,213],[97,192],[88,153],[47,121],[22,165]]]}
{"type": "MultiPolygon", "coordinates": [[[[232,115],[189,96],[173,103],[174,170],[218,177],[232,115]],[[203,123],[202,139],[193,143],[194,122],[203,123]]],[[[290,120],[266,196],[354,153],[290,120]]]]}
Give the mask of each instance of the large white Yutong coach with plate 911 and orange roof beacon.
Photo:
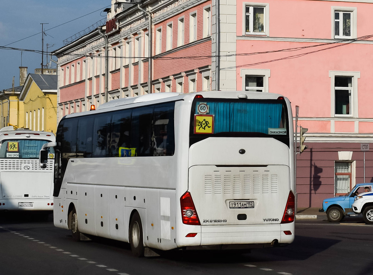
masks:
{"type": "Polygon", "coordinates": [[[157,93],[66,115],[44,145],[58,162],[54,225],[137,256],[291,243],[292,121],[288,99],[255,92],[157,93]]]}

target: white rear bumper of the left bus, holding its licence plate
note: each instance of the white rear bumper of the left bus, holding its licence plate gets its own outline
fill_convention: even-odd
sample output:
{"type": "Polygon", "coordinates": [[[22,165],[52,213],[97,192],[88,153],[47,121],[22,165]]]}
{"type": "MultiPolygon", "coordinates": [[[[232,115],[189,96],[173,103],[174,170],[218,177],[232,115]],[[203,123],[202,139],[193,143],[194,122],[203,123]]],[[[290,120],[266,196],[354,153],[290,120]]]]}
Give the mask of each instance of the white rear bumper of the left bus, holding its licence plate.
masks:
{"type": "Polygon", "coordinates": [[[0,200],[0,211],[53,211],[52,203],[53,199],[0,200]]]}

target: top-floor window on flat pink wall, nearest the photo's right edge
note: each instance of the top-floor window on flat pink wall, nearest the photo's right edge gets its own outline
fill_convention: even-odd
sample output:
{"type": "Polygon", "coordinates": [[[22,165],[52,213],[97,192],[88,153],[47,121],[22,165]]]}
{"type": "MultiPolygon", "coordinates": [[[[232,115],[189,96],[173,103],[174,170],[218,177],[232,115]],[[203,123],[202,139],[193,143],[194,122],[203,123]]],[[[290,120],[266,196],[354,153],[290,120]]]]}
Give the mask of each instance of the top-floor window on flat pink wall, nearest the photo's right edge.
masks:
{"type": "Polygon", "coordinates": [[[332,7],[332,38],[357,37],[357,8],[332,7]]]}

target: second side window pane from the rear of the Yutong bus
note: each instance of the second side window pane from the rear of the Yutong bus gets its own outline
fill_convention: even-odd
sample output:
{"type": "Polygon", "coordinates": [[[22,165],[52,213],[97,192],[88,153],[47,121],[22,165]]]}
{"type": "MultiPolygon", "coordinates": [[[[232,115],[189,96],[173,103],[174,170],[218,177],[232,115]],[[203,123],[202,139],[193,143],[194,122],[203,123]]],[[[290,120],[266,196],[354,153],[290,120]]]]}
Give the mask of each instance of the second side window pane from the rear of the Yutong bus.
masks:
{"type": "Polygon", "coordinates": [[[153,155],[151,148],[151,119],[153,107],[140,107],[132,111],[131,148],[135,148],[138,157],[153,155]]]}

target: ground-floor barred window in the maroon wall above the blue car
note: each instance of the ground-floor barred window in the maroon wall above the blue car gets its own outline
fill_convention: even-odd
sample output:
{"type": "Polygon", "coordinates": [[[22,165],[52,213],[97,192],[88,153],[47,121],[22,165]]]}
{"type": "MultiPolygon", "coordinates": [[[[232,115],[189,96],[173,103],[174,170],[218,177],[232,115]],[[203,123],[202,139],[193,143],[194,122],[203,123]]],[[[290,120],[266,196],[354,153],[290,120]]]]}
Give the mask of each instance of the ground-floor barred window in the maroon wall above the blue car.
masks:
{"type": "Polygon", "coordinates": [[[351,190],[351,163],[349,162],[335,162],[334,164],[335,177],[335,194],[346,194],[351,190]]]}

